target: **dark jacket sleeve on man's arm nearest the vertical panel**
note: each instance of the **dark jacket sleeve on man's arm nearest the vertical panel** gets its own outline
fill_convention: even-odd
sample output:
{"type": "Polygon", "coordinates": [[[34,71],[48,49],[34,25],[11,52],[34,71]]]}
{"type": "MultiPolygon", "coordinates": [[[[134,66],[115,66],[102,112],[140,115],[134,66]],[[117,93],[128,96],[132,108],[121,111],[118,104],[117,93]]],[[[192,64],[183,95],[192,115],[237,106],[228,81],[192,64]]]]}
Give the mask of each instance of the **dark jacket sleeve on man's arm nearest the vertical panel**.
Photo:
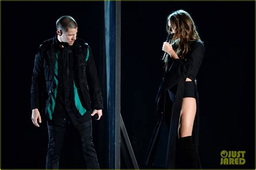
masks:
{"type": "Polygon", "coordinates": [[[93,95],[93,106],[94,109],[100,110],[103,109],[103,100],[102,100],[102,92],[100,90],[98,75],[97,75],[97,68],[95,65],[95,61],[93,59],[93,55],[91,52],[91,48],[89,48],[89,58],[87,60],[87,69],[86,74],[87,77],[91,81],[91,89],[92,89],[92,95],[93,95]]]}

